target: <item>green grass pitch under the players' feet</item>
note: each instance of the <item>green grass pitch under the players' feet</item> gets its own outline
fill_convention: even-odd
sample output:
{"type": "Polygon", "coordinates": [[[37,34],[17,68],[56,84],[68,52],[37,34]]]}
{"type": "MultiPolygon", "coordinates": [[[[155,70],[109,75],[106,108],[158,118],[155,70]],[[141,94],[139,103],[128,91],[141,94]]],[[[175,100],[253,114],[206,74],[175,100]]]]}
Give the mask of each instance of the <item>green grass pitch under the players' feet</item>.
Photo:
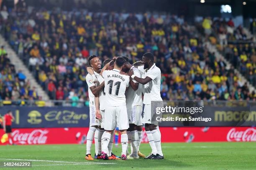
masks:
{"type": "MultiPolygon", "coordinates": [[[[146,143],[140,150],[145,155],[151,151],[146,143]]],[[[255,142],[163,143],[162,150],[164,160],[87,161],[85,145],[7,145],[0,146],[0,161],[32,160],[32,168],[21,170],[256,170],[255,142]]],[[[113,146],[113,152],[120,155],[121,147],[113,146]]]]}

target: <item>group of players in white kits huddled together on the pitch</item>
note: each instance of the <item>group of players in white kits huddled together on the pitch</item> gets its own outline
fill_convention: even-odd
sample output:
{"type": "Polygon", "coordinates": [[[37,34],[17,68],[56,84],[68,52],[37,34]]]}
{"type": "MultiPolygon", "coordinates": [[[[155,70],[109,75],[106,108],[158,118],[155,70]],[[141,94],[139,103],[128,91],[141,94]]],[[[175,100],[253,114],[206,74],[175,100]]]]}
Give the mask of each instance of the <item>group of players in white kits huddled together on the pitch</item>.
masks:
{"type": "Polygon", "coordinates": [[[86,160],[93,160],[91,146],[95,139],[95,158],[164,159],[161,133],[154,120],[154,110],[161,107],[161,70],[154,63],[154,55],[145,53],[133,65],[127,57],[114,57],[101,63],[96,55],[89,57],[87,67],[90,99],[90,128],[87,133],[86,160]],[[143,95],[143,98],[142,98],[143,95]],[[152,152],[146,157],[139,151],[142,126],[145,125],[152,152]],[[122,155],[112,153],[115,128],[121,133],[122,155]],[[131,143],[131,154],[128,153],[131,143]]]}

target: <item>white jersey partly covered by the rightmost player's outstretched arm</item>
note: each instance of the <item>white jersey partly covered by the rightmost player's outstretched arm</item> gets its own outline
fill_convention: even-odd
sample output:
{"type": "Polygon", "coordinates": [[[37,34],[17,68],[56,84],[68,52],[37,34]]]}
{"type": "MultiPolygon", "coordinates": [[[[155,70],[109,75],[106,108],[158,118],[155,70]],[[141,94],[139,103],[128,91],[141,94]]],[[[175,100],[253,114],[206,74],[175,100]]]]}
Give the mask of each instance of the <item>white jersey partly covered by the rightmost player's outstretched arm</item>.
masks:
{"type": "MultiPolygon", "coordinates": [[[[133,67],[133,74],[136,77],[141,78],[141,72],[138,70],[138,68],[133,67]]],[[[133,80],[133,82],[136,82],[136,80],[133,80]]],[[[126,92],[126,107],[132,108],[136,105],[142,106],[142,84],[139,83],[138,90],[134,91],[133,88],[130,86],[126,92]]]]}

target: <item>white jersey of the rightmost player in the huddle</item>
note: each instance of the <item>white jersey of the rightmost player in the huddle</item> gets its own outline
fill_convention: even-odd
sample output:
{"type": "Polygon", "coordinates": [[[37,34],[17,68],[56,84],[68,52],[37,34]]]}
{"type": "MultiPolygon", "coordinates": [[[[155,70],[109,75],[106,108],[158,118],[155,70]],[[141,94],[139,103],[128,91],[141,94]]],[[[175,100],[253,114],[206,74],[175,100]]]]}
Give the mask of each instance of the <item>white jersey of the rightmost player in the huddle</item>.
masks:
{"type": "MultiPolygon", "coordinates": [[[[139,66],[138,69],[143,71],[143,66],[139,66]]],[[[150,69],[144,70],[143,78],[150,77],[152,80],[144,85],[144,97],[143,104],[151,104],[151,101],[163,101],[160,94],[161,86],[161,70],[156,67],[156,64],[152,65],[150,69]]]]}

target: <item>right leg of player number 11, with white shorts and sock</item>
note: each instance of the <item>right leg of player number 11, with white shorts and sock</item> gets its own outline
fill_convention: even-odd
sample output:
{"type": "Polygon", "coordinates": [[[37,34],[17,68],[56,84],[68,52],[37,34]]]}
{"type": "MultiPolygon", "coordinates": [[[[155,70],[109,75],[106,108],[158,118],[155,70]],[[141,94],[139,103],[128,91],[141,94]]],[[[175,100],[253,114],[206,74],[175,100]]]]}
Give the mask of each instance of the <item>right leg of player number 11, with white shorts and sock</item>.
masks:
{"type": "Polygon", "coordinates": [[[121,144],[122,144],[122,160],[126,160],[126,150],[128,146],[128,135],[126,130],[129,128],[128,115],[126,106],[116,107],[116,123],[121,133],[121,144]]]}

